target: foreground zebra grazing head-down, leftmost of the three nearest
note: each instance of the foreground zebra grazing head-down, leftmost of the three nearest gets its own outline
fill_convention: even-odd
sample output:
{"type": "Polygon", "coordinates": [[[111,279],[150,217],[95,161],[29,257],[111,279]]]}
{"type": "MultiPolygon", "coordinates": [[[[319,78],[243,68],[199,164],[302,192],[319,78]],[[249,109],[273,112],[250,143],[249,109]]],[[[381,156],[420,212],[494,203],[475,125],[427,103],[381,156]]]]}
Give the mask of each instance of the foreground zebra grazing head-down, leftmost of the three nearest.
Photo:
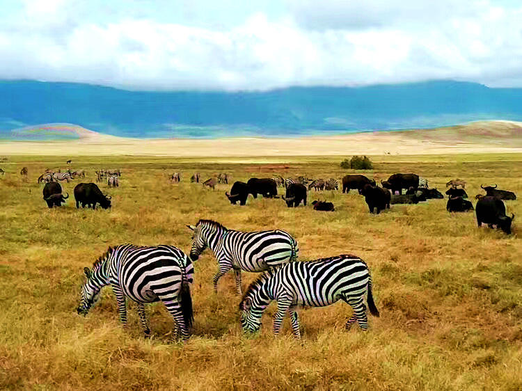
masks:
{"type": "Polygon", "coordinates": [[[134,246],[122,244],[109,249],[93,264],[84,268],[86,280],[81,287],[78,314],[86,316],[100,298],[102,287],[111,285],[120,321],[127,325],[126,300],[138,304],[138,314],[145,337],[150,329],[145,317],[144,303],[162,301],[175,321],[174,333],[181,332],[184,341],[189,339],[192,326],[193,264],[182,250],[174,246],[134,246]]]}

